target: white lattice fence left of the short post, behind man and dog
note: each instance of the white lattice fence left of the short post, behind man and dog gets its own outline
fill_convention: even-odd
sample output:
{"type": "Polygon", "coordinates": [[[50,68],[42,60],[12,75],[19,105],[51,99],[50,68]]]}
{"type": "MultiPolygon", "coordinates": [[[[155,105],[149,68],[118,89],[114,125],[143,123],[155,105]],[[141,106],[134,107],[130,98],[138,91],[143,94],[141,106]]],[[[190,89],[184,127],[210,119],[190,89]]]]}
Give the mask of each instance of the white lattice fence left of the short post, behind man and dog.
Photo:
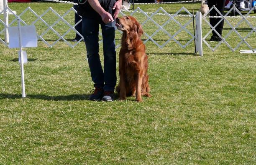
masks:
{"type": "MultiPolygon", "coordinates": [[[[7,9],[12,12],[12,10],[7,7],[7,9]]],[[[3,24],[3,29],[0,31],[0,34],[3,34],[6,30],[6,28],[8,28],[9,26],[13,26],[15,25],[15,23],[17,22],[18,18],[21,20],[21,23],[23,25],[36,25],[39,22],[43,23],[46,26],[46,29],[44,30],[44,32],[38,33],[38,40],[42,40],[47,46],[49,47],[53,47],[54,45],[56,45],[56,43],[58,43],[59,41],[64,41],[65,43],[67,43],[67,45],[69,45],[70,47],[75,47],[79,42],[81,42],[83,40],[83,38],[81,40],[79,40],[78,42],[74,43],[74,42],[69,42],[69,40],[66,38],[66,35],[69,32],[77,32],[77,30],[75,30],[75,26],[81,21],[79,21],[78,23],[76,23],[74,25],[73,20],[72,23],[69,23],[69,21],[66,20],[67,15],[72,14],[74,15],[74,13],[77,13],[76,10],[74,10],[73,7],[71,7],[67,12],[65,12],[64,14],[60,15],[58,14],[53,8],[49,7],[43,14],[38,15],[35,11],[33,11],[31,9],[31,7],[27,7],[22,13],[20,13],[19,15],[16,15],[15,13],[13,13],[14,19],[11,21],[11,23],[6,26],[5,23],[3,22],[3,20],[0,20],[0,23],[3,24]],[[31,18],[35,17],[35,20],[30,21],[31,23],[27,23],[26,19],[23,19],[24,15],[30,15],[31,18]],[[54,23],[48,23],[48,20],[44,20],[45,15],[48,15],[49,17],[50,15],[53,15],[52,18],[55,18],[56,20],[54,20],[54,23]],[[68,27],[68,30],[64,33],[60,33],[58,32],[58,30],[56,30],[55,25],[62,23],[64,24],[64,26],[68,27]],[[47,36],[46,34],[51,32],[53,35],[55,35],[57,37],[57,39],[50,43],[48,42],[47,36]]],[[[148,13],[148,12],[144,12],[143,10],[141,10],[139,7],[134,10],[134,11],[121,11],[119,16],[124,16],[124,15],[133,15],[136,18],[141,18],[141,25],[142,26],[147,26],[147,24],[150,24],[151,26],[153,25],[155,29],[149,29],[150,31],[154,31],[154,32],[148,32],[147,30],[145,30],[144,32],[144,43],[147,43],[148,41],[152,41],[155,45],[157,45],[158,47],[162,48],[164,46],[166,46],[169,42],[174,41],[176,42],[180,47],[185,48],[187,47],[187,45],[189,45],[195,38],[195,36],[192,34],[192,22],[193,22],[193,16],[192,14],[184,7],[182,7],[179,11],[177,11],[177,13],[175,14],[169,14],[167,13],[162,7],[159,7],[158,10],[156,10],[154,13],[148,13]],[[125,14],[126,13],[126,14],[125,14]],[[179,20],[177,20],[178,17],[182,17],[182,15],[179,15],[179,13],[185,13],[186,15],[183,15],[184,17],[186,17],[188,20],[187,22],[182,21],[182,23],[179,22],[179,20]],[[159,22],[154,20],[154,18],[156,18],[157,16],[160,17],[165,17],[164,22],[159,22]],[[188,28],[189,26],[189,28],[188,28]],[[172,29],[172,30],[168,30],[168,29],[172,29]],[[174,31],[174,29],[176,29],[176,31],[174,31]],[[170,32],[171,31],[171,32],[170,32]],[[157,35],[159,34],[164,34],[164,37],[166,37],[166,40],[160,40],[159,43],[159,39],[156,40],[157,35]],[[184,33],[187,34],[187,40],[185,40],[185,42],[180,42],[179,35],[182,33],[182,35],[184,35],[184,33]]],[[[72,17],[73,18],[73,17],[72,17]]],[[[184,19],[182,19],[184,20],[184,19]]],[[[52,21],[51,21],[52,22],[52,21]]],[[[144,28],[144,27],[143,27],[144,28]]],[[[77,32],[79,34],[79,32],[77,32]]],[[[117,32],[117,33],[121,33],[121,31],[117,32]]],[[[99,32],[100,35],[101,32],[99,32]]],[[[79,34],[82,37],[82,34],[79,34]]],[[[51,35],[52,37],[52,35],[51,35]]],[[[4,40],[0,39],[1,42],[3,42],[6,46],[8,45],[8,43],[6,43],[4,40]]],[[[99,43],[102,43],[102,40],[99,41],[99,43]]],[[[119,47],[120,44],[117,44],[117,47],[119,47]]]]}

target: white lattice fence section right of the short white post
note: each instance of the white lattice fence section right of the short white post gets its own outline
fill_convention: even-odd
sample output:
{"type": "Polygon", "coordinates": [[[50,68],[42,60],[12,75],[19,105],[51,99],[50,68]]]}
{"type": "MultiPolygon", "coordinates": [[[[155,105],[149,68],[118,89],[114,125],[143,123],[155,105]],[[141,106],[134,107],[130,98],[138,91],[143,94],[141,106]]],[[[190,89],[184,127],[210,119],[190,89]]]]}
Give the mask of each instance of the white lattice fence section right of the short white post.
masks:
{"type": "Polygon", "coordinates": [[[253,7],[246,15],[242,15],[235,6],[233,6],[225,15],[222,15],[215,6],[213,6],[208,13],[210,13],[211,10],[216,10],[220,16],[202,16],[202,20],[204,20],[207,26],[207,28],[203,28],[202,30],[203,32],[207,30],[207,33],[202,37],[202,41],[210,48],[210,50],[215,51],[220,45],[225,44],[232,51],[245,46],[252,52],[256,51],[256,16],[250,16],[250,13],[252,13],[253,10],[256,10],[256,7],[253,7]],[[228,16],[234,11],[238,13],[237,16],[228,16]],[[210,17],[219,18],[220,20],[215,26],[212,26],[208,20],[210,17]],[[223,30],[223,34],[220,35],[215,28],[222,20],[224,20],[223,29],[225,30],[223,30]],[[210,31],[208,31],[209,27],[210,31]],[[222,40],[211,44],[207,38],[209,38],[208,36],[211,35],[213,30],[222,40]],[[244,35],[244,33],[246,33],[246,35],[244,35]]]}

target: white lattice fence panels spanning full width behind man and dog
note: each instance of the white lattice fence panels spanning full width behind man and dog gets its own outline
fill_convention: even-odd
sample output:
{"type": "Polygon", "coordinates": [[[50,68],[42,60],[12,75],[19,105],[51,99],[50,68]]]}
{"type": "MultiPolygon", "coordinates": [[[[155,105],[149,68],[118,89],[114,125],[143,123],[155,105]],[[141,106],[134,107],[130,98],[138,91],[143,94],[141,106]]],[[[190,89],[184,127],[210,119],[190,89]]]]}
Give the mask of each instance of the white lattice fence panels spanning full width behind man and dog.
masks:
{"type": "MultiPolygon", "coordinates": [[[[7,7],[7,10],[13,13],[9,7],[7,7]]],[[[239,47],[244,47],[244,45],[246,45],[246,47],[248,47],[249,50],[251,50],[252,52],[256,51],[256,44],[251,39],[253,37],[256,38],[256,16],[249,15],[251,12],[253,12],[253,10],[255,10],[255,7],[253,7],[251,11],[249,11],[246,15],[242,15],[239,10],[236,9],[236,7],[231,8],[225,15],[221,15],[221,13],[215,6],[213,6],[210,11],[211,10],[216,10],[220,16],[197,15],[196,22],[197,24],[200,23],[200,25],[196,25],[196,35],[193,34],[193,15],[185,7],[182,7],[175,14],[167,13],[166,10],[164,10],[162,7],[159,7],[154,13],[144,12],[139,7],[137,7],[137,9],[134,11],[121,11],[119,16],[133,15],[134,17],[136,17],[144,29],[144,43],[151,41],[160,48],[168,45],[170,42],[172,42],[172,47],[173,44],[177,44],[180,47],[185,48],[189,44],[192,44],[192,41],[196,39],[197,48],[202,48],[202,44],[200,44],[200,42],[203,42],[212,51],[215,51],[216,49],[218,49],[218,47],[220,47],[220,45],[223,44],[232,51],[237,50],[239,47]],[[239,15],[235,17],[228,16],[234,10],[236,10],[239,15]],[[218,32],[215,30],[215,27],[220,23],[221,20],[217,25],[212,27],[208,20],[209,17],[221,18],[221,20],[225,21],[225,30],[223,30],[222,36],[220,36],[220,34],[218,34],[218,32]],[[201,22],[201,20],[203,21],[201,22]],[[241,27],[243,27],[243,32],[239,30],[239,28],[241,29],[241,27]],[[210,37],[212,30],[217,32],[219,37],[222,38],[222,41],[213,43],[209,42],[208,38],[210,37]],[[244,35],[246,30],[248,31],[248,33],[244,35]],[[202,34],[202,36],[200,36],[200,34],[202,34]],[[250,39],[250,42],[248,42],[248,39],[250,39]],[[233,45],[234,40],[237,41],[236,45],[233,45]]],[[[0,14],[2,13],[3,11],[0,12],[0,14]]],[[[61,15],[57,13],[53,8],[49,7],[46,11],[44,11],[44,13],[38,15],[30,7],[27,7],[19,15],[13,13],[13,20],[10,22],[9,25],[6,25],[5,22],[0,19],[0,36],[3,36],[6,28],[10,26],[15,26],[17,20],[20,19],[23,25],[37,26],[37,24],[39,23],[43,24],[45,26],[45,29],[43,31],[41,30],[40,32],[38,31],[38,40],[42,40],[47,46],[53,47],[58,42],[62,41],[70,47],[75,47],[79,42],[83,40],[83,38],[78,42],[71,42],[70,40],[72,38],[68,36],[69,33],[75,34],[77,32],[74,27],[80,22],[79,21],[77,24],[74,25],[74,13],[77,13],[77,11],[74,10],[73,7],[71,7],[67,12],[61,15]],[[30,15],[31,19],[35,19],[26,22],[26,15],[28,14],[30,15]],[[46,17],[46,15],[48,15],[48,18],[46,17]],[[72,17],[70,17],[69,15],[72,15],[72,17]],[[23,19],[23,17],[25,18],[23,19]],[[44,19],[45,17],[47,18],[47,20],[44,19]],[[51,18],[51,23],[49,23],[49,18],[51,18]],[[70,20],[70,18],[72,18],[72,20],[70,20]],[[66,27],[63,28],[66,31],[63,32],[62,30],[62,32],[59,32],[56,29],[56,25],[60,23],[63,27],[66,27]],[[54,35],[56,40],[49,42],[49,33],[51,33],[50,37],[52,38],[54,35]]],[[[79,32],[77,33],[79,34],[79,32]]],[[[120,33],[122,32],[117,30],[117,36],[119,35],[119,37],[116,37],[117,40],[120,40],[120,33]]],[[[74,34],[72,37],[74,37],[74,34]]],[[[99,34],[102,36],[101,32],[99,32],[99,34]]],[[[82,37],[82,34],[79,35],[82,37]]],[[[1,37],[0,42],[8,46],[8,43],[5,42],[5,40],[1,37]]],[[[102,40],[100,40],[99,43],[102,43],[102,40]]],[[[117,47],[119,46],[120,44],[118,44],[117,42],[117,47]]]]}

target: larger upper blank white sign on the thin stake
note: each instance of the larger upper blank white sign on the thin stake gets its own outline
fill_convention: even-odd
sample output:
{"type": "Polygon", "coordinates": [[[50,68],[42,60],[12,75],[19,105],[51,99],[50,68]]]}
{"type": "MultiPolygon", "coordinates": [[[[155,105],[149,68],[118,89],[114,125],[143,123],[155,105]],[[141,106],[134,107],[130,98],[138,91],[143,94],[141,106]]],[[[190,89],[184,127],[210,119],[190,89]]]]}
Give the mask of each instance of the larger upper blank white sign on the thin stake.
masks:
{"type": "MultiPolygon", "coordinates": [[[[9,47],[20,47],[18,26],[9,27],[8,31],[9,47]]],[[[21,26],[21,43],[22,47],[37,47],[37,34],[35,25],[21,26]]]]}

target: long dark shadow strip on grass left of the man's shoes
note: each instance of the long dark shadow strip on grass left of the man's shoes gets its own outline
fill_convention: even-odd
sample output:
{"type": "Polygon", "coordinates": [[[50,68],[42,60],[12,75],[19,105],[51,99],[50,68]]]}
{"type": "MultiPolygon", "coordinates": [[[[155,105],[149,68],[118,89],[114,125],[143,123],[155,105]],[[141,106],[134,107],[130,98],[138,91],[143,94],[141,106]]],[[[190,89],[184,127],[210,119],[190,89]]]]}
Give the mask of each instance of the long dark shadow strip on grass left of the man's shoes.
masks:
{"type": "MultiPolygon", "coordinates": [[[[61,96],[48,96],[48,95],[26,95],[26,98],[38,100],[54,100],[54,101],[74,101],[74,100],[89,100],[90,94],[73,94],[61,96]]],[[[0,93],[0,99],[19,99],[22,98],[21,94],[0,93]]]]}

